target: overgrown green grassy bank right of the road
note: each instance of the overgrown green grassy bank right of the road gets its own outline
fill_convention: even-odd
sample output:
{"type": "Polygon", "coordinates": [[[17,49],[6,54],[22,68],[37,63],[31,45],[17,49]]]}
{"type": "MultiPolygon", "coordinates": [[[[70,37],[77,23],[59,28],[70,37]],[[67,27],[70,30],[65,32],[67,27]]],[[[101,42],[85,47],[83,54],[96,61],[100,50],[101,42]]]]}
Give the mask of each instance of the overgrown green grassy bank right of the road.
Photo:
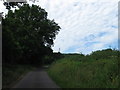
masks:
{"type": "Polygon", "coordinates": [[[48,74],[62,88],[117,88],[118,60],[118,52],[111,50],[65,55],[48,74]]]}

